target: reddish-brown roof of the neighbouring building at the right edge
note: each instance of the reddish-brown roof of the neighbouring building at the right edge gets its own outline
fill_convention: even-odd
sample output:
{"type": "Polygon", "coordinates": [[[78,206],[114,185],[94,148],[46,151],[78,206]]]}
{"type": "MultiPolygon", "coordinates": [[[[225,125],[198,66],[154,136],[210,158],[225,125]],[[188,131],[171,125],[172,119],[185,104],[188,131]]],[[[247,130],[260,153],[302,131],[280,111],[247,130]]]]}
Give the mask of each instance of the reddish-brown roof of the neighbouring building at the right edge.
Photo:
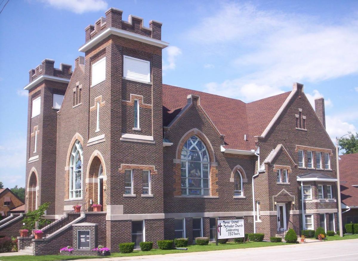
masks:
{"type": "Polygon", "coordinates": [[[342,202],[347,206],[358,206],[358,153],[339,156],[339,176],[342,202]]]}

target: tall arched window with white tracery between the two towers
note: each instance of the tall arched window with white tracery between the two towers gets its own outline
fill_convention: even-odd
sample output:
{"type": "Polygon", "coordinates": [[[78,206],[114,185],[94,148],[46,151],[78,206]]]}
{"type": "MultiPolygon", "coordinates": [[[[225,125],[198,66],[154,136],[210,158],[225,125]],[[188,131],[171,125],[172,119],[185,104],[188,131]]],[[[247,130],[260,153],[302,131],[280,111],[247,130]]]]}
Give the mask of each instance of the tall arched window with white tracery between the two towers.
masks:
{"type": "Polygon", "coordinates": [[[69,198],[82,197],[82,144],[74,143],[69,166],[69,198]]]}

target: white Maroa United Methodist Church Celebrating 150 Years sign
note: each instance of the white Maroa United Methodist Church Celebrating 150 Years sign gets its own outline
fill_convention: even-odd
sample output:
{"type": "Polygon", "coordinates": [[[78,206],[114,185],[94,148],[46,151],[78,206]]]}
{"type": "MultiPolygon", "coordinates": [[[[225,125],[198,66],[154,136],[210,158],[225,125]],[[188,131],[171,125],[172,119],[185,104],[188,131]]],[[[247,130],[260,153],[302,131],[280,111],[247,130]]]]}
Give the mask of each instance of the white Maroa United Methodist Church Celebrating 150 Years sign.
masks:
{"type": "Polygon", "coordinates": [[[243,219],[218,219],[218,239],[245,237],[243,219]]]}

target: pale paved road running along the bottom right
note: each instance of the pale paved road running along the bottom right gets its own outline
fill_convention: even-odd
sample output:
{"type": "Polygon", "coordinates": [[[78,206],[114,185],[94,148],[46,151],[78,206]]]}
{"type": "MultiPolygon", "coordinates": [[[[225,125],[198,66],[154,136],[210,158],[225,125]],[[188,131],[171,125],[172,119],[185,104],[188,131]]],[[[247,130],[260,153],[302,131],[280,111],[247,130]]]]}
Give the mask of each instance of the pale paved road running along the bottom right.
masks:
{"type": "MultiPolygon", "coordinates": [[[[97,259],[96,259],[97,260],[97,259]]],[[[179,253],[169,255],[139,256],[126,258],[102,258],[101,261],[143,260],[143,261],[350,261],[358,260],[358,239],[315,242],[274,247],[246,248],[208,252],[179,253]]],[[[92,259],[93,261],[93,259],[92,259]]]]}

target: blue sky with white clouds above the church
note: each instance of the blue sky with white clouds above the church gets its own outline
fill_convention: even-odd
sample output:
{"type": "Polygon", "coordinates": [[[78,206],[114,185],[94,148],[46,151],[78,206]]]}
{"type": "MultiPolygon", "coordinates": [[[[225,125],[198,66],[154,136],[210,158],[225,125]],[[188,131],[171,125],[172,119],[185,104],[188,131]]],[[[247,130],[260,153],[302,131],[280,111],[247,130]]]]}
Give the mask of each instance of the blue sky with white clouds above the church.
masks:
{"type": "MultiPolygon", "coordinates": [[[[3,7],[4,1],[0,7],[3,7]]],[[[10,0],[0,14],[0,181],[25,183],[28,71],[74,64],[84,28],[115,7],[163,22],[163,83],[245,102],[305,85],[329,135],[358,128],[357,1],[10,0]]]]}

